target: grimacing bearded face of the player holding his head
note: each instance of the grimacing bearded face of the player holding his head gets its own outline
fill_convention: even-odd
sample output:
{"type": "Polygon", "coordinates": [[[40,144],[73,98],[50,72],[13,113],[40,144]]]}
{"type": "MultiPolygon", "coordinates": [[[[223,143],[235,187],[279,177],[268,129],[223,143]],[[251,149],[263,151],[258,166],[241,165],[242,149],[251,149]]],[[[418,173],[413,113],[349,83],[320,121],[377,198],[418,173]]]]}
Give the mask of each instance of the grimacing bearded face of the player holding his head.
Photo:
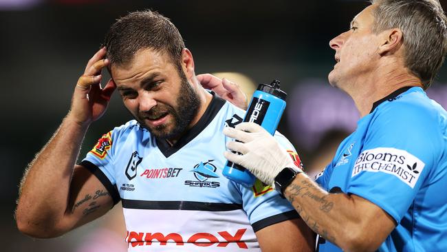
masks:
{"type": "Polygon", "coordinates": [[[197,114],[197,92],[167,54],[139,50],[131,63],[112,65],[111,74],[124,106],[157,138],[179,136],[197,114]]]}

